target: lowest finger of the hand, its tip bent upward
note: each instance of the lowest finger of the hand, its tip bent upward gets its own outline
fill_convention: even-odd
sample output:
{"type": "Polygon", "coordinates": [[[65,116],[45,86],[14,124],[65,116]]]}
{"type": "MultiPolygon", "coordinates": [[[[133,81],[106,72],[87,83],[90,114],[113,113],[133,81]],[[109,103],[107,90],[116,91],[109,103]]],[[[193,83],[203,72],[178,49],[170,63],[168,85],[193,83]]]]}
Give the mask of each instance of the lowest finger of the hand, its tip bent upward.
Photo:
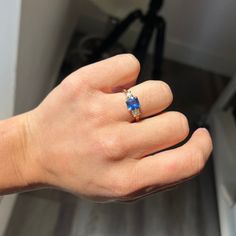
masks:
{"type": "Polygon", "coordinates": [[[206,129],[198,129],[183,146],[143,158],[135,165],[136,188],[162,188],[195,176],[205,166],[212,151],[206,129]]]}

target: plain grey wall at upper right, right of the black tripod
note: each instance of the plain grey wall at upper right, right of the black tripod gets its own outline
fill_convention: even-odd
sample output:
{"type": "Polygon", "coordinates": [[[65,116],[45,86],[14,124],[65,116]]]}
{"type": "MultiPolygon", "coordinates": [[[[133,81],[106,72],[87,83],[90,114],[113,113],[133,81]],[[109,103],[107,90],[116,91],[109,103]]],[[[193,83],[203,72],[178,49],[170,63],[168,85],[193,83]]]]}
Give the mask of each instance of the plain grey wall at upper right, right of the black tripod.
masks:
{"type": "Polygon", "coordinates": [[[236,72],[236,2],[166,1],[167,56],[225,75],[236,72]]]}

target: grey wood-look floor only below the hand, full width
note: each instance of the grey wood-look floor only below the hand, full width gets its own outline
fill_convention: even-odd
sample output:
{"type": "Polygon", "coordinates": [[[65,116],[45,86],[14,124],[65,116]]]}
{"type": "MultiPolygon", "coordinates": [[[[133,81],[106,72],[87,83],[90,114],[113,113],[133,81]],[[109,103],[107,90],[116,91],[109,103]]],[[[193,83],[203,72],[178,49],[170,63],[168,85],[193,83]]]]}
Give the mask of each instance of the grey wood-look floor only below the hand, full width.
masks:
{"type": "Polygon", "coordinates": [[[201,176],[132,204],[53,190],[21,194],[5,236],[219,236],[211,163],[201,176]]]}

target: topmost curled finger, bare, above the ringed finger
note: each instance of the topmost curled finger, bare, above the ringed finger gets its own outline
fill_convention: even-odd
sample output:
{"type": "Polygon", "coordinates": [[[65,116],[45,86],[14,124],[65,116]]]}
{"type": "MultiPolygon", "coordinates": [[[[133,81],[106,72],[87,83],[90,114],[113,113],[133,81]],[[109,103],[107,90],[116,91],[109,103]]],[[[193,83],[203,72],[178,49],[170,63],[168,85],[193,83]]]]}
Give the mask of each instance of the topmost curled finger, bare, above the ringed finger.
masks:
{"type": "Polygon", "coordinates": [[[132,54],[121,54],[82,67],[73,75],[80,77],[91,87],[111,93],[119,87],[135,84],[140,64],[132,54]]]}

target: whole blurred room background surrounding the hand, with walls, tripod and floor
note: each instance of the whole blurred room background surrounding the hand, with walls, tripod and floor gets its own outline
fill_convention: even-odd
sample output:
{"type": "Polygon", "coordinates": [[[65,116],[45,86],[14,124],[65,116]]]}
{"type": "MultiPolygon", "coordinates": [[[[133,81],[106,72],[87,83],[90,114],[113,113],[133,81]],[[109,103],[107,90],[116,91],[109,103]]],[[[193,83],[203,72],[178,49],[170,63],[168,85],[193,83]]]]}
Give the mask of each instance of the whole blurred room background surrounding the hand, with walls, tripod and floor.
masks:
{"type": "Polygon", "coordinates": [[[200,176],[131,204],[50,189],[3,197],[0,236],[235,236],[235,10],[233,0],[0,0],[1,119],[34,108],[79,67],[130,52],[138,82],[167,82],[170,109],[214,141],[200,176]]]}

